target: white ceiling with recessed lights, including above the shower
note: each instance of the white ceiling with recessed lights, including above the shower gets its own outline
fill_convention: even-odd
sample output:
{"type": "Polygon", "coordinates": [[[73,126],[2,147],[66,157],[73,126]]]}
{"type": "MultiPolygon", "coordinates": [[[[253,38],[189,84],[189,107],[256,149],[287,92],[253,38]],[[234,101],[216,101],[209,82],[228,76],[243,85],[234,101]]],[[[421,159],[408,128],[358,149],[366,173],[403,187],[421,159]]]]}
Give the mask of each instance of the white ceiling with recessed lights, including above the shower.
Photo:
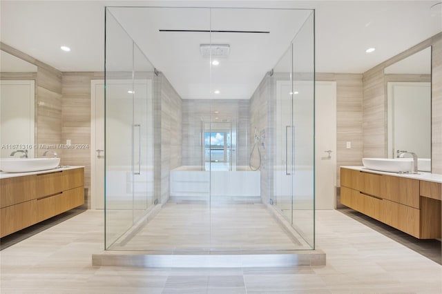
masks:
{"type": "MultiPolygon", "coordinates": [[[[434,6],[439,2],[2,0],[0,37],[3,43],[61,71],[102,71],[104,6],[309,8],[316,10],[316,72],[362,73],[441,32],[442,4],[434,6]],[[71,52],[61,51],[61,45],[70,46],[71,52]],[[369,47],[376,51],[365,53],[369,47]]],[[[206,96],[207,85],[212,90],[222,86],[222,98],[249,98],[307,17],[305,11],[272,14],[266,10],[211,10],[210,16],[208,10],[131,10],[129,14],[120,9],[112,12],[183,98],[206,96]],[[210,72],[199,48],[192,49],[207,42],[209,34],[157,32],[157,28],[209,25],[212,30],[244,28],[271,33],[248,34],[247,38],[213,33],[209,41],[211,37],[217,43],[230,43],[231,56],[210,72]]],[[[125,47],[120,43],[118,48],[125,47]]]]}

